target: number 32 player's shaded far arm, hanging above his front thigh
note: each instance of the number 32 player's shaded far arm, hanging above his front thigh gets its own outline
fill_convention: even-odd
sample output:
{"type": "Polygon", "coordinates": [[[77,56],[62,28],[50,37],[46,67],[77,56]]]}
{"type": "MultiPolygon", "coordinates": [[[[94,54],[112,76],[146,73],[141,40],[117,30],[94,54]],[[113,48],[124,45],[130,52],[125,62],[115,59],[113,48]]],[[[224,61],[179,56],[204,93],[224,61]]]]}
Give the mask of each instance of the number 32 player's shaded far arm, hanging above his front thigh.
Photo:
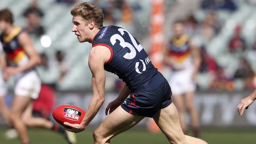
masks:
{"type": "Polygon", "coordinates": [[[130,90],[128,89],[128,87],[125,85],[119,96],[113,100],[112,102],[110,102],[108,104],[108,106],[106,107],[105,110],[105,114],[108,115],[108,110],[109,110],[109,114],[112,113],[117,107],[119,107],[119,105],[122,104],[122,102],[124,102],[124,100],[127,98],[127,96],[130,94],[130,90]]]}

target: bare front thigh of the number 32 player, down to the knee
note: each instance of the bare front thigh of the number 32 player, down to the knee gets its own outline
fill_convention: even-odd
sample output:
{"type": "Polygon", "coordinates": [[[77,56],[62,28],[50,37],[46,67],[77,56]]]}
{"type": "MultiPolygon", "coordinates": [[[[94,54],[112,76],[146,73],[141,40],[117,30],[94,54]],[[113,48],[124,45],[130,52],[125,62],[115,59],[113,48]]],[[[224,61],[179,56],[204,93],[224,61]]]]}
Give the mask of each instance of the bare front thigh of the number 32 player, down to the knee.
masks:
{"type": "Polygon", "coordinates": [[[95,130],[95,134],[108,140],[115,135],[130,129],[143,118],[144,116],[127,113],[121,106],[119,106],[106,117],[102,124],[95,130]]]}

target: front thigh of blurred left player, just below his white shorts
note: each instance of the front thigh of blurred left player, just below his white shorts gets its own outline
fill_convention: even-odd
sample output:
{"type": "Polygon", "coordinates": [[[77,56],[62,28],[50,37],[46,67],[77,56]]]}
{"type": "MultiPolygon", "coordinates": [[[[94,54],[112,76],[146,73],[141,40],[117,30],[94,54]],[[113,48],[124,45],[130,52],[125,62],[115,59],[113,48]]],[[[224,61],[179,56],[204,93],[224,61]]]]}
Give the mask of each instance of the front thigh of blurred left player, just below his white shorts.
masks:
{"type": "Polygon", "coordinates": [[[31,98],[29,96],[15,96],[11,105],[11,115],[21,116],[30,101],[31,98]]]}

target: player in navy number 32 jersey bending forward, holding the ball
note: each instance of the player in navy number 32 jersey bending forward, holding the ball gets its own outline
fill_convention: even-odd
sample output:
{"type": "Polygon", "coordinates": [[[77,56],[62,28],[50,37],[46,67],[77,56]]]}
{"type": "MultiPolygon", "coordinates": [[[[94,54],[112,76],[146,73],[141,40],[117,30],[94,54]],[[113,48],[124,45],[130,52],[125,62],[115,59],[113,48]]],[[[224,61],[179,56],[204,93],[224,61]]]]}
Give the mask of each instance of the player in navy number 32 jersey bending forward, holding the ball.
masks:
{"type": "Polygon", "coordinates": [[[89,68],[92,73],[93,98],[81,124],[64,124],[69,131],[81,132],[93,120],[104,102],[105,70],[119,76],[126,85],[117,99],[106,107],[106,119],[94,131],[94,144],[110,144],[110,139],[135,126],[145,117],[156,124],[175,144],[206,144],[203,140],[185,136],[176,107],[171,102],[167,80],[152,65],[139,42],[117,26],[103,27],[103,13],[89,2],[76,5],[72,31],[79,42],[92,43],[89,68]],[[128,95],[130,95],[129,98],[128,95]]]}

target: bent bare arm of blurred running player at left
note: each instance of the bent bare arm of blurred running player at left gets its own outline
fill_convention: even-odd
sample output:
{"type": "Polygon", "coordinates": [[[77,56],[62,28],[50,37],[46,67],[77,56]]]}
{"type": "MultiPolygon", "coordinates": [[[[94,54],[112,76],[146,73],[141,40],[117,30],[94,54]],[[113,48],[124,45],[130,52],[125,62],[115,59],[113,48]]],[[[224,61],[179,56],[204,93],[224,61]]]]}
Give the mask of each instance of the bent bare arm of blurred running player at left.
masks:
{"type": "MultiPolygon", "coordinates": [[[[6,67],[4,70],[4,76],[7,75],[9,76],[14,76],[15,74],[19,72],[23,72],[25,70],[28,70],[32,68],[33,66],[37,65],[40,63],[40,57],[35,51],[35,47],[33,46],[32,40],[30,39],[30,36],[26,32],[20,33],[18,37],[18,41],[20,45],[24,48],[24,51],[26,55],[29,57],[29,61],[26,65],[24,66],[19,66],[19,67],[6,67]]],[[[5,77],[5,79],[8,79],[5,77]]]]}

